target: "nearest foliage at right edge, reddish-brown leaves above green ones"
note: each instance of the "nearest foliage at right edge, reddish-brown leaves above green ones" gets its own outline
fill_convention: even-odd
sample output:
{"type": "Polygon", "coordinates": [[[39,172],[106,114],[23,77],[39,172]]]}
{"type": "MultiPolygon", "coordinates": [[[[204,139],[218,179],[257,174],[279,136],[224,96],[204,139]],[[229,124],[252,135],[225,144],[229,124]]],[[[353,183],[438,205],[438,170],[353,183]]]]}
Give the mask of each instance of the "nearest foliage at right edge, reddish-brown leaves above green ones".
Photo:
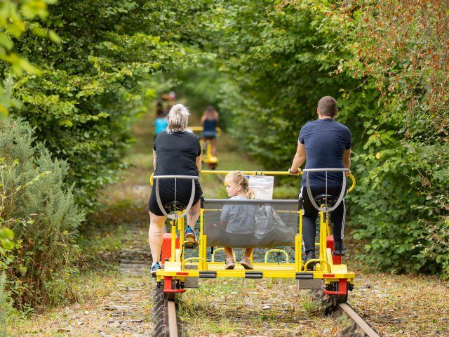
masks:
{"type": "Polygon", "coordinates": [[[449,277],[447,5],[347,1],[333,15],[351,22],[340,40],[351,58],[340,60],[338,72],[369,77],[382,107],[364,123],[369,138],[357,157],[368,194],[356,199],[364,224],[357,236],[370,240],[364,259],[387,270],[443,277],[449,277]]]}

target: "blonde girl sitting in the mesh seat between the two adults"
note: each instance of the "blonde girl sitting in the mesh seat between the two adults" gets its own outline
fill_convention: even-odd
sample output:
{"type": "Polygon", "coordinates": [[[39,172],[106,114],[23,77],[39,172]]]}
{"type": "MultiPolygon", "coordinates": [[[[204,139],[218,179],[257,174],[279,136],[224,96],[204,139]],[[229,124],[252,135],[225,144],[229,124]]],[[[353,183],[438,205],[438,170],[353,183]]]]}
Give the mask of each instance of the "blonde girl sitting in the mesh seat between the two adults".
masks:
{"type": "MultiPolygon", "coordinates": [[[[254,191],[249,186],[249,181],[241,171],[229,172],[225,178],[226,192],[230,199],[255,199],[254,191]]],[[[245,234],[253,237],[255,208],[249,205],[225,204],[220,216],[220,223],[226,225],[226,232],[239,233],[242,237],[245,234]],[[250,219],[250,222],[248,222],[250,219]]],[[[225,269],[234,269],[235,260],[231,247],[224,247],[226,253],[225,269]]],[[[246,248],[240,264],[245,269],[254,269],[251,264],[251,254],[253,248],[246,248]]]]}

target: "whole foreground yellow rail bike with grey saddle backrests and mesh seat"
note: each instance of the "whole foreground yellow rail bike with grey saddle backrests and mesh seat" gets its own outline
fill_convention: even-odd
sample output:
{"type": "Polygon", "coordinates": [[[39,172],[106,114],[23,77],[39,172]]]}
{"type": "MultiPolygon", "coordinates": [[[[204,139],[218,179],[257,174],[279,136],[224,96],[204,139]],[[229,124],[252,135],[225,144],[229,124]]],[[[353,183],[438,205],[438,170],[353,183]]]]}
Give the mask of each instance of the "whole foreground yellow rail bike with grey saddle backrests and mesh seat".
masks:
{"type": "MultiPolygon", "coordinates": [[[[304,170],[308,176],[315,172],[342,172],[343,186],[339,196],[320,194],[311,197],[319,210],[317,219],[316,253],[318,258],[303,262],[302,252],[302,200],[301,199],[202,199],[199,218],[199,246],[189,247],[185,241],[184,215],[189,206],[178,205],[168,213],[170,233],[164,234],[161,250],[163,268],[156,272],[156,297],[154,304],[154,336],[178,336],[175,314],[175,296],[187,288],[198,288],[199,280],[217,277],[244,277],[247,279],[290,278],[295,279],[298,289],[323,289],[332,303],[345,303],[348,291],[354,287],[354,272],[342,264],[341,256],[333,255],[333,235],[330,234],[330,211],[344,197],[347,169],[304,170]],[[252,234],[232,234],[220,223],[222,211],[229,205],[253,207],[252,234]],[[225,263],[217,261],[222,247],[255,247],[251,257],[254,269],[247,270],[239,263],[226,270],[225,263]],[[190,248],[190,249],[189,249],[190,248]],[[257,250],[256,250],[257,248],[257,250]],[[277,260],[272,257],[277,256],[277,260]],[[314,270],[308,265],[315,263],[314,270]]],[[[200,174],[225,174],[229,171],[202,171],[200,174]]],[[[243,171],[248,176],[290,176],[279,171],[243,171]]],[[[348,192],[354,190],[355,178],[351,179],[348,192]]],[[[156,196],[160,179],[192,179],[192,176],[154,176],[156,196]]],[[[309,180],[309,179],[307,179],[309,180]]],[[[159,204],[159,206],[163,206],[159,204]]],[[[244,212],[242,212],[244,213],[244,212]]],[[[198,228],[196,228],[198,231],[198,228]]]]}

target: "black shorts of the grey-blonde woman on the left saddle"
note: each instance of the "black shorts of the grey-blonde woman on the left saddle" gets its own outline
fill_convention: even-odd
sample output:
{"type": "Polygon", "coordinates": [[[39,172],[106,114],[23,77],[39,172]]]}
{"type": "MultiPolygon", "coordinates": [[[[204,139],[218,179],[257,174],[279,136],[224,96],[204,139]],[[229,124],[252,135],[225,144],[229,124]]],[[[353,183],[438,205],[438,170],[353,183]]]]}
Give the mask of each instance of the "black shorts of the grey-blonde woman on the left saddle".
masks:
{"type": "MultiPolygon", "coordinates": [[[[177,180],[177,188],[176,188],[176,201],[179,201],[181,204],[187,206],[189,204],[190,195],[192,194],[192,181],[191,180],[177,180]]],[[[203,191],[201,191],[201,186],[198,182],[195,183],[195,196],[194,196],[194,204],[196,204],[203,191]]],[[[159,183],[159,197],[161,197],[162,205],[175,201],[175,189],[172,184],[166,184],[166,182],[159,183]]],[[[159,205],[156,200],[156,181],[152,187],[152,194],[149,197],[148,201],[148,209],[150,212],[155,214],[156,216],[163,216],[159,205]]],[[[168,211],[166,210],[168,213],[168,211]]]]}

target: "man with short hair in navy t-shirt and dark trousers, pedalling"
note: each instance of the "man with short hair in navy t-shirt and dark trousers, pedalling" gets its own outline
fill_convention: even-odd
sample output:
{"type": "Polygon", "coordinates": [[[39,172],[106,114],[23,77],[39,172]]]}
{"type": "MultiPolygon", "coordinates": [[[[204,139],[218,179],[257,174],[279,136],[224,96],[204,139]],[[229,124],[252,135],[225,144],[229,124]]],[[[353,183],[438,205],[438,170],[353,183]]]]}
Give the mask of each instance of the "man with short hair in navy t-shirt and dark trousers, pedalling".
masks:
{"type": "MultiPolygon", "coordinates": [[[[347,126],[335,121],[337,101],[325,96],[319,100],[316,109],[318,119],[309,121],[300,131],[297,150],[289,172],[297,175],[300,166],[306,161],[305,169],[350,169],[351,168],[351,132],[347,126]]],[[[310,187],[314,196],[327,193],[340,195],[342,189],[342,173],[310,173],[310,187]],[[326,186],[327,185],[327,186],[326,186]]],[[[318,210],[311,204],[307,194],[307,176],[302,176],[300,197],[303,199],[304,215],[302,218],[302,241],[304,242],[305,260],[315,258],[316,217],[318,210]]],[[[337,209],[330,213],[333,223],[334,255],[344,255],[344,199],[337,209]]],[[[313,269],[315,263],[309,263],[313,269]]]]}

